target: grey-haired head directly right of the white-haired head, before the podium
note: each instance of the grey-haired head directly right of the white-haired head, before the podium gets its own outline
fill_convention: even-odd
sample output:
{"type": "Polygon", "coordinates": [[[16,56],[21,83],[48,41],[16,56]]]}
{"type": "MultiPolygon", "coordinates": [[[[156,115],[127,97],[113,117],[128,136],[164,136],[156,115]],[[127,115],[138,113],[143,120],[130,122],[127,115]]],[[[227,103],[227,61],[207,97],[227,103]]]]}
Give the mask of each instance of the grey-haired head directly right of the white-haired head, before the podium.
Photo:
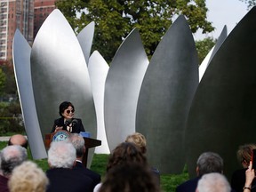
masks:
{"type": "Polygon", "coordinates": [[[85,153],[84,138],[78,133],[72,133],[68,137],[68,140],[76,148],[76,157],[81,158],[85,153]]]}

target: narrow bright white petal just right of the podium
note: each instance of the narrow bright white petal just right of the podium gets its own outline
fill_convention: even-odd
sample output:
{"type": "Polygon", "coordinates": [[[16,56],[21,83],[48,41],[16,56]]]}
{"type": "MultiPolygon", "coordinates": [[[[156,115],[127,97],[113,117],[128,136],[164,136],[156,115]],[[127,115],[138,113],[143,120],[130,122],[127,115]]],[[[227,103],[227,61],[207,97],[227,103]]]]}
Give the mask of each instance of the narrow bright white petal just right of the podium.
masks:
{"type": "Polygon", "coordinates": [[[108,68],[108,63],[100,55],[100,52],[94,51],[89,60],[88,70],[97,115],[97,140],[101,140],[101,146],[95,148],[96,154],[110,153],[104,124],[104,90],[108,68]]]}

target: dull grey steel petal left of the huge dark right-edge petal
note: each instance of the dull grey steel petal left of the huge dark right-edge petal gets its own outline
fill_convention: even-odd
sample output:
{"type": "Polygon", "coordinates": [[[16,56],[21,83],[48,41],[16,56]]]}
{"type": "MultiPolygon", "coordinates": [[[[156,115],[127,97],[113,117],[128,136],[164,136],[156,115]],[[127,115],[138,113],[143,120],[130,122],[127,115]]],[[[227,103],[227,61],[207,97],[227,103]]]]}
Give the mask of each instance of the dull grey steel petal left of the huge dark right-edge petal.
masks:
{"type": "Polygon", "coordinates": [[[136,131],[147,140],[148,160],[163,173],[180,173],[188,110],[198,84],[194,38],[184,16],[168,29],[156,48],[141,85],[136,131]]]}

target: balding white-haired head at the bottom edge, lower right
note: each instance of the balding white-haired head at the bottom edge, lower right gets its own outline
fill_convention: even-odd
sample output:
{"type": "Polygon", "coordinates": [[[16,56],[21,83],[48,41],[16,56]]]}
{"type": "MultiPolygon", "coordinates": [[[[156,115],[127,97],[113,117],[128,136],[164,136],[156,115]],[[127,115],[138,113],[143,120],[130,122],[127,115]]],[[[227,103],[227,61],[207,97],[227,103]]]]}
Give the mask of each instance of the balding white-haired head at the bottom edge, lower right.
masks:
{"type": "Polygon", "coordinates": [[[228,180],[219,172],[204,174],[198,181],[196,192],[230,192],[228,180]]]}

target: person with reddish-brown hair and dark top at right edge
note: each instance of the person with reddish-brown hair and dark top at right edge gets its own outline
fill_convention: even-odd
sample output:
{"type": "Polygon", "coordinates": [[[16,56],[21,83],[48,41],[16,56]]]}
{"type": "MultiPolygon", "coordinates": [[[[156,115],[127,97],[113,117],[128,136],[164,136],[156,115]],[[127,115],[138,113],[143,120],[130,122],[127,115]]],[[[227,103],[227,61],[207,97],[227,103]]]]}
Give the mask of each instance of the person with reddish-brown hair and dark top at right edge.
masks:
{"type": "MultiPolygon", "coordinates": [[[[243,169],[236,170],[232,174],[231,178],[231,188],[236,190],[236,192],[244,191],[244,182],[245,182],[245,171],[249,167],[250,161],[252,159],[252,149],[255,149],[255,144],[245,144],[239,146],[236,156],[238,162],[243,166],[243,169]]],[[[256,181],[252,181],[252,192],[256,191],[256,181]]]]}

